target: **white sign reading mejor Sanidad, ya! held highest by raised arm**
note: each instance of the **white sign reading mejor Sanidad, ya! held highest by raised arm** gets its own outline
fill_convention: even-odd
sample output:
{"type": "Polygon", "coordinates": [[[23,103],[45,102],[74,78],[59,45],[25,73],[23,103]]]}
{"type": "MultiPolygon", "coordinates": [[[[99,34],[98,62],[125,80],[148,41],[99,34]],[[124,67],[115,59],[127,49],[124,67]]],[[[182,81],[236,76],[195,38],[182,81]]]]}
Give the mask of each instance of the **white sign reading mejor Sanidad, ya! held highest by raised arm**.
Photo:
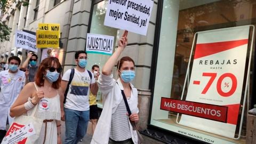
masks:
{"type": "Polygon", "coordinates": [[[104,25],[146,35],[154,2],[109,0],[104,25]]]}

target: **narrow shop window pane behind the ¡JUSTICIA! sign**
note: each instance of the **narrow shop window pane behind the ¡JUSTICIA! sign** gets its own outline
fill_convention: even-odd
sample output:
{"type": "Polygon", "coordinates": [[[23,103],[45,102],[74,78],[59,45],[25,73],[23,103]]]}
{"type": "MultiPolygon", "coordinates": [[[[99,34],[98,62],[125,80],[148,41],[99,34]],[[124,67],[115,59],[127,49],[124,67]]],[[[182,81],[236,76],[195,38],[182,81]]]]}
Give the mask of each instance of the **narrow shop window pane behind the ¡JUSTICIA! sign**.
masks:
{"type": "MultiPolygon", "coordinates": [[[[118,33],[117,29],[104,26],[104,19],[107,11],[107,4],[108,4],[108,1],[101,1],[93,5],[90,33],[116,37],[118,33]]],[[[115,41],[116,41],[116,38],[114,39],[114,42],[115,41]]],[[[114,47],[115,47],[115,43],[114,43],[114,47]]],[[[105,62],[108,60],[110,56],[88,53],[87,57],[89,59],[87,68],[91,69],[93,65],[99,65],[100,71],[101,71],[103,65],[105,64],[105,62]]],[[[98,91],[98,94],[97,94],[97,105],[98,107],[102,108],[102,94],[100,90],[98,91]]]]}

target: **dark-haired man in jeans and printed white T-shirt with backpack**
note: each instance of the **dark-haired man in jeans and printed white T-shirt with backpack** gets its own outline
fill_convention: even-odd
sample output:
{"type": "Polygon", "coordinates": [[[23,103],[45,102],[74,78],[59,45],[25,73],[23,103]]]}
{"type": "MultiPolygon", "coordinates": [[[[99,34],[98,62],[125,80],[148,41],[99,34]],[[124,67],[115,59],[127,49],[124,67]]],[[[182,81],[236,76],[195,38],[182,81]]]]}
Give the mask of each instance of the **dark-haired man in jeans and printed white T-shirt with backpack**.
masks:
{"type": "Polygon", "coordinates": [[[76,68],[68,69],[61,82],[61,89],[66,91],[61,95],[61,119],[65,119],[66,126],[65,144],[77,143],[84,137],[90,115],[89,92],[91,90],[94,95],[98,92],[94,75],[85,68],[86,52],[77,51],[75,62],[76,68]]]}

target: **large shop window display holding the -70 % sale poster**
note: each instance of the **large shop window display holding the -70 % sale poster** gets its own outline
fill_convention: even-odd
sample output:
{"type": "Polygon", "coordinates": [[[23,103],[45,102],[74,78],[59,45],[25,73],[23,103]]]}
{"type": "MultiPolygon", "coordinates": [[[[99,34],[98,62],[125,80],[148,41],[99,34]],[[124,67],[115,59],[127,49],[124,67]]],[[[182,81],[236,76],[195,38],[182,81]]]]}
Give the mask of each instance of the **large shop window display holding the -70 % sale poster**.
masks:
{"type": "MultiPolygon", "coordinates": [[[[238,85],[236,85],[234,81],[233,75],[236,75],[236,78],[238,77],[238,74],[229,75],[225,72],[226,75],[223,72],[223,69],[225,67],[219,66],[214,67],[212,66],[211,69],[211,60],[209,57],[204,55],[203,59],[198,59],[198,66],[195,70],[197,71],[197,76],[201,76],[201,79],[196,79],[195,76],[191,75],[193,72],[192,70],[192,64],[189,65],[189,58],[190,56],[194,59],[196,57],[195,49],[192,51],[191,55],[191,48],[193,47],[193,39],[196,38],[199,41],[201,41],[202,44],[204,43],[214,43],[214,42],[224,42],[224,41],[237,41],[241,39],[247,39],[246,43],[241,43],[241,45],[251,43],[255,43],[251,41],[252,38],[252,29],[247,28],[246,33],[236,33],[234,34],[237,36],[236,38],[232,39],[231,36],[226,36],[227,38],[224,38],[224,33],[219,34],[218,36],[213,36],[210,38],[209,42],[206,42],[206,36],[198,36],[196,33],[202,33],[202,31],[205,30],[217,30],[221,28],[238,28],[238,26],[245,26],[245,25],[255,25],[255,10],[253,9],[253,5],[255,5],[254,1],[193,1],[193,4],[191,1],[164,1],[163,2],[163,12],[162,12],[162,22],[161,22],[161,34],[159,39],[159,50],[158,50],[158,57],[157,57],[157,69],[156,69],[156,76],[155,76],[155,85],[154,85],[154,93],[153,93],[153,104],[152,104],[152,111],[151,111],[151,117],[150,117],[150,125],[154,125],[157,127],[161,127],[162,129],[166,129],[168,131],[173,131],[182,135],[186,135],[187,137],[195,138],[204,142],[209,143],[245,143],[245,133],[242,133],[242,137],[239,138],[239,125],[238,122],[241,120],[240,118],[245,118],[246,116],[242,115],[242,109],[239,110],[239,107],[243,105],[243,95],[245,90],[245,85],[243,83],[243,80],[237,80],[239,81],[238,85]],[[251,11],[245,11],[244,10],[251,10],[251,11]],[[177,31],[177,32],[176,32],[177,31]],[[195,37],[196,36],[196,37],[195,37]],[[223,37],[221,37],[223,36],[223,37]],[[243,37],[245,36],[245,37],[243,37]],[[247,38],[246,38],[247,36],[247,38]],[[249,37],[248,37],[249,36],[249,37]],[[219,38],[219,41],[217,39],[219,38]],[[248,40],[249,39],[249,40],[248,40]],[[209,59],[206,60],[206,57],[209,59]],[[200,61],[202,60],[202,61],[200,61]],[[168,61],[168,62],[166,62],[168,61]],[[207,65],[199,65],[207,63],[207,65]],[[188,66],[189,65],[189,66],[188,66]],[[188,77],[186,78],[186,71],[187,68],[189,68],[188,71],[188,77]],[[203,91],[201,88],[209,83],[209,79],[212,78],[210,76],[203,75],[202,78],[202,70],[206,69],[205,73],[213,73],[212,71],[216,71],[217,69],[222,68],[223,74],[218,74],[213,82],[214,86],[206,86],[207,89],[203,91]],[[201,70],[201,71],[200,71],[201,70]],[[198,72],[200,71],[200,73],[198,72]],[[186,81],[185,81],[186,79],[186,81]],[[218,80],[221,79],[221,80],[218,80]],[[190,81],[189,81],[190,80],[190,81]],[[202,81],[201,81],[202,80],[202,81]],[[194,83],[193,83],[194,82],[194,83]],[[194,85],[194,87],[191,87],[192,89],[189,90],[189,84],[194,85]],[[218,85],[218,84],[219,85],[218,85]],[[242,83],[242,84],[241,84],[242,83]],[[198,87],[198,85],[200,87],[198,87]],[[226,87],[225,87],[226,86],[226,87]],[[219,87],[219,89],[215,89],[216,87],[219,87]],[[240,87],[239,92],[238,88],[233,91],[233,87],[240,87]],[[243,88],[243,91],[242,91],[243,88]],[[182,98],[182,95],[184,93],[184,97],[182,98]],[[207,93],[208,92],[208,93],[207,93]],[[209,93],[209,92],[215,92],[209,93]],[[171,98],[171,99],[177,99],[177,100],[186,100],[186,101],[193,101],[193,102],[201,102],[201,103],[209,103],[212,105],[218,105],[223,106],[220,104],[221,102],[214,101],[210,102],[210,99],[202,99],[202,97],[199,97],[199,95],[196,95],[196,93],[205,95],[212,95],[212,97],[215,97],[216,94],[221,95],[220,97],[230,97],[230,95],[242,95],[242,101],[240,99],[236,99],[236,114],[239,115],[240,118],[236,119],[237,123],[231,123],[228,119],[228,115],[230,114],[227,112],[227,123],[225,123],[227,126],[233,127],[232,130],[230,129],[229,132],[228,129],[225,128],[225,126],[218,126],[214,127],[214,123],[223,123],[223,122],[217,122],[213,120],[208,120],[207,122],[201,122],[198,120],[198,118],[194,118],[194,116],[188,116],[183,114],[178,114],[177,112],[173,111],[167,111],[166,109],[161,109],[161,98],[171,98]],[[200,99],[201,98],[201,99],[200,99]],[[196,100],[195,100],[196,99],[196,100]],[[241,116],[242,115],[242,116],[241,116]],[[192,118],[193,117],[193,118],[192,118]],[[207,127],[211,127],[210,129],[207,129],[207,127]],[[224,127],[224,128],[223,128],[224,127]],[[213,130],[215,129],[215,130],[213,130]],[[225,129],[226,132],[221,133],[220,129],[225,129]],[[227,138],[228,137],[228,138],[227,138]],[[235,140],[238,139],[238,140],[235,140]]],[[[223,31],[223,29],[222,29],[223,31]]],[[[246,30],[242,30],[246,31],[246,30]]],[[[226,33],[232,34],[230,31],[226,33]]],[[[233,35],[233,36],[234,36],[233,35]]],[[[226,43],[227,44],[227,43],[226,43]]],[[[226,45],[225,45],[226,46],[226,45]]],[[[206,47],[211,47],[213,49],[213,45],[207,45],[206,47]]],[[[233,45],[233,47],[239,47],[239,45],[233,45]]],[[[244,47],[247,48],[247,45],[244,45],[244,47]]],[[[203,50],[202,53],[209,53],[212,52],[211,50],[203,50]]],[[[235,50],[235,49],[234,49],[235,50]]],[[[250,50],[250,49],[249,49],[250,50]]],[[[225,50],[223,50],[225,51],[225,50]]],[[[228,51],[220,52],[221,54],[216,54],[214,58],[215,60],[220,60],[220,63],[225,63],[227,65],[235,65],[234,63],[237,63],[240,60],[237,60],[237,58],[232,58],[232,53],[229,53],[228,51]],[[228,61],[230,59],[230,61],[228,61]],[[223,62],[224,61],[224,62],[223,62]]],[[[202,54],[199,53],[199,54],[202,54]]],[[[247,50],[245,50],[243,61],[245,63],[245,60],[250,59],[250,55],[248,54],[247,50]],[[247,52],[247,53],[246,53],[247,52]]],[[[254,53],[254,52],[253,52],[254,53]]],[[[238,52],[238,54],[242,54],[241,52],[238,52]]],[[[198,57],[199,58],[199,57],[198,57]]],[[[196,58],[195,58],[196,59],[196,58]]],[[[195,62],[195,61],[194,61],[195,62]]],[[[213,62],[213,61],[212,61],[213,62]]],[[[239,65],[241,65],[243,62],[239,62],[239,65]]],[[[236,65],[238,66],[238,65],[236,65]]],[[[243,69],[241,66],[238,67],[239,70],[242,70],[242,73],[245,74],[245,79],[247,75],[247,68],[245,64],[242,65],[245,69],[243,69]]],[[[251,68],[253,69],[253,68],[251,68]]],[[[231,69],[229,69],[231,70],[231,69]]],[[[231,70],[232,71],[232,70],[231,70]]],[[[234,71],[234,70],[233,70],[234,71]]],[[[237,71],[238,72],[238,71],[237,71]]],[[[244,78],[243,75],[239,76],[240,78],[244,78]]],[[[250,76],[252,78],[252,76],[250,76]]],[[[249,79],[252,80],[252,79],[249,79]]],[[[251,85],[249,85],[250,87],[251,85]]],[[[203,87],[204,88],[204,87],[203,87]]],[[[205,96],[206,97],[206,96],[205,96]]],[[[217,96],[216,96],[217,97],[217,96]]],[[[248,95],[249,99],[251,97],[251,93],[248,95]]],[[[231,97],[230,97],[231,98],[231,97]]],[[[212,100],[219,100],[218,98],[212,98],[212,100]]],[[[227,100],[227,99],[226,99],[227,100]]],[[[229,106],[232,104],[232,100],[227,100],[227,105],[225,107],[228,107],[228,110],[232,109],[229,106]],[[231,103],[230,103],[231,102],[231,103]]],[[[223,100],[220,100],[223,102],[223,100]]],[[[233,103],[233,104],[234,104],[233,103]]],[[[164,103],[162,103],[164,104],[164,103]]],[[[248,103],[246,103],[247,105],[248,103]]],[[[190,103],[188,105],[194,105],[193,103],[190,103]]],[[[165,106],[171,106],[170,101],[169,103],[165,103],[165,106]]],[[[180,105],[181,106],[181,105],[180,105]]],[[[233,105],[232,105],[233,106],[233,105]]],[[[177,106],[176,106],[177,107],[177,106]]],[[[183,109],[185,109],[185,104],[183,109]]],[[[188,107],[187,107],[188,108],[188,107]]],[[[228,111],[227,110],[227,111],[228,111]]],[[[200,111],[205,111],[205,109],[200,109],[200,111]]],[[[216,114],[218,114],[216,112],[216,114]]],[[[203,118],[199,118],[203,119],[203,118]]],[[[243,124],[244,125],[244,124],[243,124]]]]}

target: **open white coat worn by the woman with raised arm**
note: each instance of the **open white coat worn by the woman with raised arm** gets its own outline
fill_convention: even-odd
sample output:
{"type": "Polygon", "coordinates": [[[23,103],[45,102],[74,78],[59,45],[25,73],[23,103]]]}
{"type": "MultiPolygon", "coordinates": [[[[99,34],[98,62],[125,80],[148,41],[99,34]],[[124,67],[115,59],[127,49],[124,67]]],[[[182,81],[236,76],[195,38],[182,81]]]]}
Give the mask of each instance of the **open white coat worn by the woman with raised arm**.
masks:
{"type": "MultiPolygon", "coordinates": [[[[113,75],[106,76],[100,74],[98,78],[98,86],[103,94],[103,109],[100,115],[99,121],[93,133],[91,144],[107,144],[110,135],[111,128],[111,117],[112,114],[115,113],[117,106],[123,100],[123,96],[121,90],[124,90],[123,85],[118,78],[117,81],[113,79],[113,75]],[[116,82],[118,84],[116,84],[116,82]]],[[[132,88],[131,98],[128,101],[129,107],[133,113],[133,111],[137,111],[138,109],[138,91],[137,89],[130,83],[132,88]]],[[[132,125],[129,121],[130,132],[132,136],[133,143],[138,143],[138,135],[135,130],[132,130],[132,125]]]]}

